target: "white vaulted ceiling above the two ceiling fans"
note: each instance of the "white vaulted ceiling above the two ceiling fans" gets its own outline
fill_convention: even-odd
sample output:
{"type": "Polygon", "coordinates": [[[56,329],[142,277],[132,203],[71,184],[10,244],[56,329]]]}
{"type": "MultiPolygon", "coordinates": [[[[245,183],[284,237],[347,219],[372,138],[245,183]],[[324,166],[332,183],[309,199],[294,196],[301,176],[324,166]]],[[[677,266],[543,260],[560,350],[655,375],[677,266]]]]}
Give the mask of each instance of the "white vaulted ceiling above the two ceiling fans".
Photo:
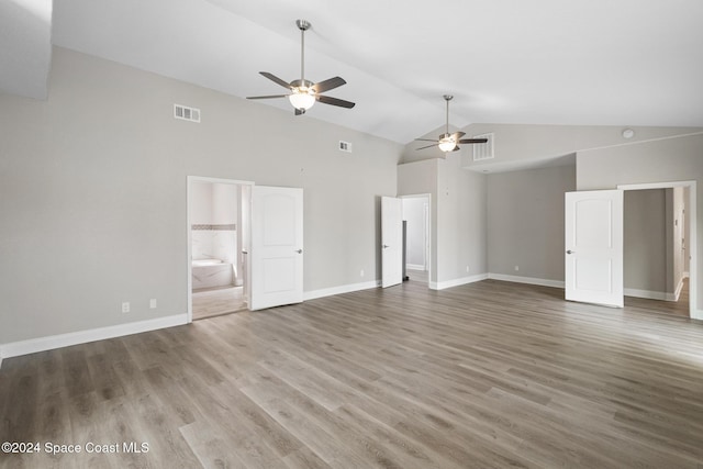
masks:
{"type": "Polygon", "coordinates": [[[238,97],[284,92],[260,70],[299,78],[306,19],[305,78],[344,77],[327,94],[357,105],[300,119],[399,143],[443,125],[445,93],[453,127],[703,126],[700,0],[54,0],[53,18],[55,45],[238,97]]]}

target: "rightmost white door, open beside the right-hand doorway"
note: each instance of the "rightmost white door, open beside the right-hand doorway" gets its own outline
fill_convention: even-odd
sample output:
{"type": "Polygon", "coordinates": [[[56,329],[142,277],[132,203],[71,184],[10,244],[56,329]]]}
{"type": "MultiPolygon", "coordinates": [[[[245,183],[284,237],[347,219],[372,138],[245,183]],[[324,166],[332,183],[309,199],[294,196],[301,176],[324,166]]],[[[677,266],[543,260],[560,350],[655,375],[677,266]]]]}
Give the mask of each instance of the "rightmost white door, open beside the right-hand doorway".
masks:
{"type": "Polygon", "coordinates": [[[566,193],[566,299],[623,306],[623,191],[566,193]]]}

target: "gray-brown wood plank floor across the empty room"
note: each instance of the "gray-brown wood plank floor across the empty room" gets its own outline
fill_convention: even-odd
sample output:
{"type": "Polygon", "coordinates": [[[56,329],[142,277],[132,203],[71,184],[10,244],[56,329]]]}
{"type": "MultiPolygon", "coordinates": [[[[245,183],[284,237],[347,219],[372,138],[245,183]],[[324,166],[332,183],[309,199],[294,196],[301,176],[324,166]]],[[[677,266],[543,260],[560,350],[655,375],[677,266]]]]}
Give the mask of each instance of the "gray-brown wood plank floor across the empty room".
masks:
{"type": "Polygon", "coordinates": [[[40,451],[0,467],[703,468],[703,322],[562,295],[410,281],[8,358],[0,442],[40,451]]]}

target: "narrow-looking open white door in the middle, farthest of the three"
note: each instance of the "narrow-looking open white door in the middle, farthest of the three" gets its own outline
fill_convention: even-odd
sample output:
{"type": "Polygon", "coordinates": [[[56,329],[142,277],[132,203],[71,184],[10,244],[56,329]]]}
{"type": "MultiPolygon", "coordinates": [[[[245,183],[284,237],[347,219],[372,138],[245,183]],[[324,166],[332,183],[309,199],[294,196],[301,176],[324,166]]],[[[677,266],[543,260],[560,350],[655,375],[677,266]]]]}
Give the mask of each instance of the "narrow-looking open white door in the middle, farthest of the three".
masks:
{"type": "Polygon", "coordinates": [[[403,281],[403,201],[381,198],[381,287],[403,281]]]}

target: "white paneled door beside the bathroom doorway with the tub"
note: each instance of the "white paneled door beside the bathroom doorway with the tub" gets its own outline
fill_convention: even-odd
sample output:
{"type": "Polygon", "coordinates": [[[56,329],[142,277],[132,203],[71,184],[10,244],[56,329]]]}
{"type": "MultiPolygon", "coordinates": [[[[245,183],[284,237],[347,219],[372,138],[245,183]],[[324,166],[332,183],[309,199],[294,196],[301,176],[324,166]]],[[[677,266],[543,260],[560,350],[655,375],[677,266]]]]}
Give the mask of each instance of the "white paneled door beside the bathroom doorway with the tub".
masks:
{"type": "Polygon", "coordinates": [[[249,310],[303,301],[303,190],[252,188],[249,310]]]}

